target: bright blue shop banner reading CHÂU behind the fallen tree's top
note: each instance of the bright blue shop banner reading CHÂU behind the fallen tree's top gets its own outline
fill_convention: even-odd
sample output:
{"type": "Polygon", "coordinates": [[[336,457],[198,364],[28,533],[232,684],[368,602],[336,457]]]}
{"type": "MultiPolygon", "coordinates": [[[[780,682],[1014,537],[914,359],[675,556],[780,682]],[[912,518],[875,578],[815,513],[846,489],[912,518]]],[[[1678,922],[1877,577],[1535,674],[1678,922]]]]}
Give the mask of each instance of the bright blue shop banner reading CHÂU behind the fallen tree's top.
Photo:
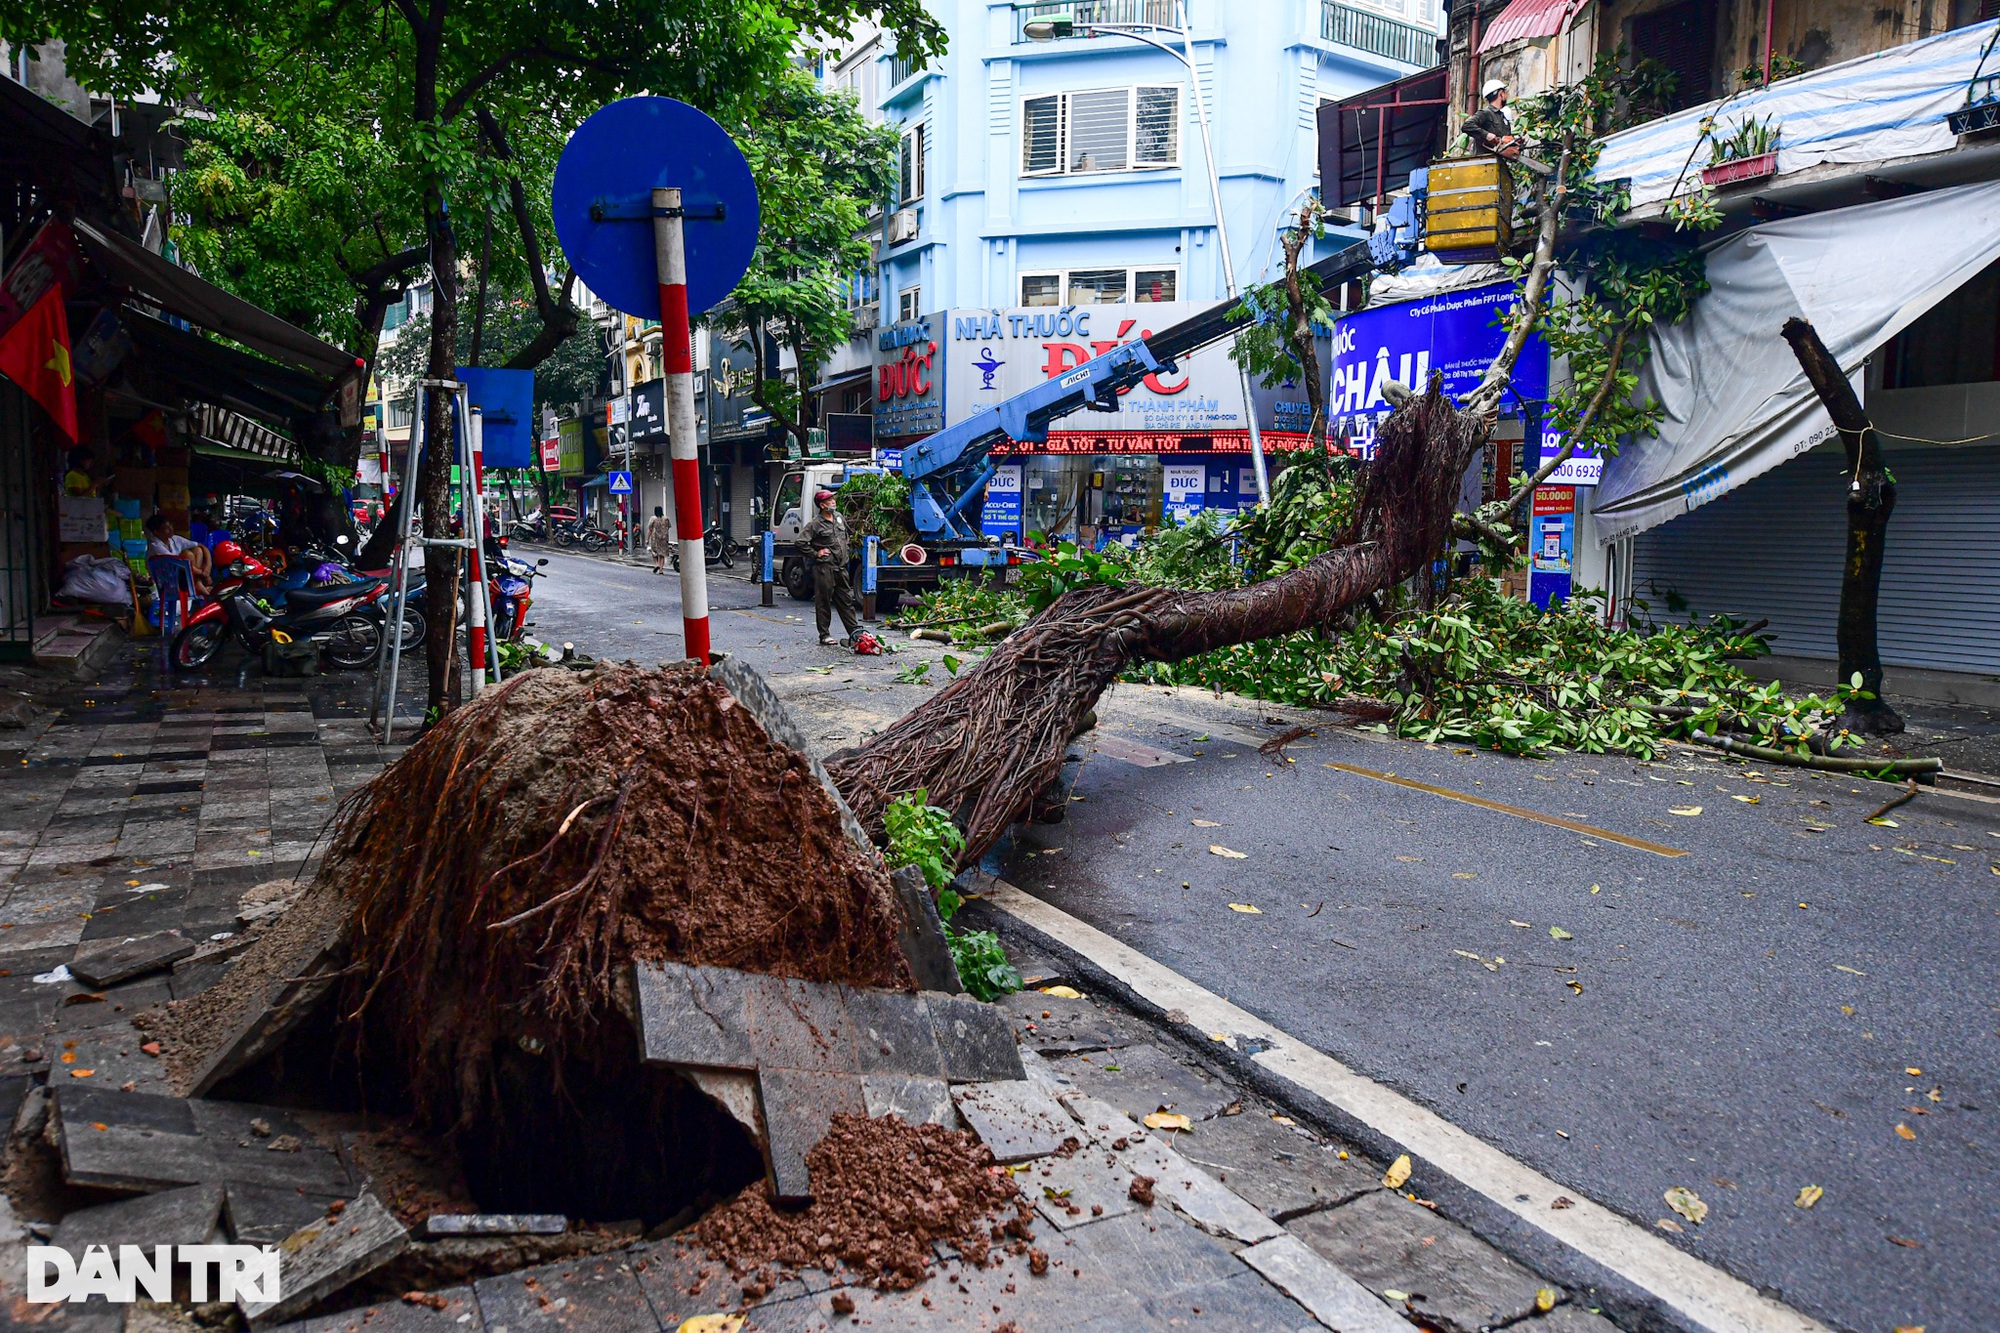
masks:
{"type": "MultiPolygon", "coordinates": [[[[1342,318],[1334,326],[1326,392],[1326,414],[1336,430],[1350,436],[1364,456],[1374,456],[1374,426],[1390,410],[1382,396],[1386,380],[1422,390],[1430,372],[1438,370],[1444,392],[1454,398],[1478,388],[1506,342],[1500,316],[1512,306],[1514,284],[1492,282],[1342,318]]],[[[1540,334],[1528,338],[1514,362],[1514,392],[1502,402],[1502,412],[1520,410],[1516,394],[1528,402],[1548,398],[1548,344],[1540,334]]]]}

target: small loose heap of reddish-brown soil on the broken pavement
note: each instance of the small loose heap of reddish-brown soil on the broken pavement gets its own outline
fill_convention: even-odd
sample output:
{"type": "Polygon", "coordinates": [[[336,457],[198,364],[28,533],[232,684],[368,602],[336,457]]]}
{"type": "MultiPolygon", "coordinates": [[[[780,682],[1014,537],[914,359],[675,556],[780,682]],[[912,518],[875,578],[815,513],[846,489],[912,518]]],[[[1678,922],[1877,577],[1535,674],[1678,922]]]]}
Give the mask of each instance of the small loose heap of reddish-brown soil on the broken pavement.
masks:
{"type": "Polygon", "coordinates": [[[930,1275],[934,1241],[982,1265],[996,1243],[1024,1247],[1032,1239],[1032,1207],[986,1145],[962,1129],[836,1115],[806,1165],[812,1205],[804,1211],[782,1213],[752,1185],[690,1227],[686,1241],[738,1277],[846,1267],[860,1283],[906,1291],[930,1275]]]}

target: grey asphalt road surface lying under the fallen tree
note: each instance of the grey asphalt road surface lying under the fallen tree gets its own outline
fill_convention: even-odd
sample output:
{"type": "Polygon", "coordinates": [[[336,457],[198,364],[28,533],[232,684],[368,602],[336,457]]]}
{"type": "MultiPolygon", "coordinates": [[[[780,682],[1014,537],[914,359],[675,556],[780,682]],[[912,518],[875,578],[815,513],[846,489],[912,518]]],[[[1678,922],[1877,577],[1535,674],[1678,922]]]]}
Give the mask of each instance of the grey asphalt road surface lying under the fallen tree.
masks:
{"type": "MultiPolygon", "coordinates": [[[[544,638],[678,656],[672,578],[550,570],[544,638]]],[[[782,590],[710,594],[716,644],[828,749],[926,693],[888,677],[934,648],[856,662],[782,590]]],[[[1996,1327],[2000,805],[1926,795],[1882,827],[1894,789],[1692,751],[1520,761],[1328,729],[1274,763],[1134,719],[1106,709],[1084,799],[1004,849],[1010,881],[1834,1327],[1996,1327]]]]}

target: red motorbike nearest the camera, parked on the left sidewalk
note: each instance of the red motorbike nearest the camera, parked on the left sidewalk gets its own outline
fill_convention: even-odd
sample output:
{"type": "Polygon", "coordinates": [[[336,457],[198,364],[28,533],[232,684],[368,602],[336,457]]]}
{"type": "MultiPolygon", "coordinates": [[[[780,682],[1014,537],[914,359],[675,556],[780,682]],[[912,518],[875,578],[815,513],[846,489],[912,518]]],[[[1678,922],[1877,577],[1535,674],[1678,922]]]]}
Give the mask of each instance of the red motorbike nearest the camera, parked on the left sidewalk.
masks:
{"type": "Polygon", "coordinates": [[[270,570],[254,558],[236,558],[226,576],[216,582],[214,598],[188,614],[174,634],[168,660],[180,671],[206,666],[230,638],[248,652],[262,654],[266,644],[310,638],[326,652],[326,660],[342,669],[370,664],[382,650],[388,616],[382,598],[390,590],[386,578],[356,582],[322,582],[276,592],[264,580],[270,570]],[[278,606],[264,592],[280,598],[278,606]]]}

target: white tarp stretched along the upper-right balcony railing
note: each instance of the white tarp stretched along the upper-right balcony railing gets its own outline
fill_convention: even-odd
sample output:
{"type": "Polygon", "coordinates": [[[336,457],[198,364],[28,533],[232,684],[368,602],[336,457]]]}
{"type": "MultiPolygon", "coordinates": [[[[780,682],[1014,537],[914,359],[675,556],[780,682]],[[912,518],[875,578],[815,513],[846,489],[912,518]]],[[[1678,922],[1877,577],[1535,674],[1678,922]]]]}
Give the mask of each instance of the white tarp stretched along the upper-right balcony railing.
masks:
{"type": "Polygon", "coordinates": [[[1972,24],[1612,134],[1604,140],[1596,176],[1628,176],[1634,208],[1668,198],[1676,182],[1682,188],[1700,186],[1710,146],[1696,148],[1696,140],[1708,116],[1716,118],[1716,138],[1728,138],[1746,118],[1774,118],[1778,176],[1822,162],[1888,162],[1948,152],[1958,138],[1944,116],[1966,104],[1966,86],[1996,26],[2000,20],[1972,24]]]}

